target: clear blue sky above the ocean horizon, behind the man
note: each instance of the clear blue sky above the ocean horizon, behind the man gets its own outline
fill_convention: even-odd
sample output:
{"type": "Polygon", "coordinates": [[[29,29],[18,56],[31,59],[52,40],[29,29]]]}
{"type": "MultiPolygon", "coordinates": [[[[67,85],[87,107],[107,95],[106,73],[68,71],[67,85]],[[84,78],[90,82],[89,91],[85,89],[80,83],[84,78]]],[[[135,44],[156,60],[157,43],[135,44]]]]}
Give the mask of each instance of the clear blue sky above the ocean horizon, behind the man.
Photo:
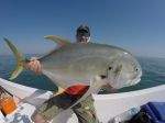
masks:
{"type": "Polygon", "coordinates": [[[90,27],[91,42],[165,58],[165,0],[0,0],[0,55],[45,54],[56,44],[45,35],[75,42],[76,29],[90,27]]]}

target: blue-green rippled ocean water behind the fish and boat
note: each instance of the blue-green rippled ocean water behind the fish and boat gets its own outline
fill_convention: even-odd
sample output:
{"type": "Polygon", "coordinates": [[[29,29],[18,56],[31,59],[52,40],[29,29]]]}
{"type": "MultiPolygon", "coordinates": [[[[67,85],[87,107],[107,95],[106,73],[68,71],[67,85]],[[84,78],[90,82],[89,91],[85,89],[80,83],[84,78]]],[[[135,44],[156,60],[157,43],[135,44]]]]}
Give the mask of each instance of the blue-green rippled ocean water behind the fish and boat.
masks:
{"type": "MultiPolygon", "coordinates": [[[[32,56],[41,55],[26,55],[32,56]]],[[[140,90],[160,85],[165,85],[165,58],[136,57],[141,64],[143,76],[136,86],[120,89],[118,92],[140,90]]],[[[0,77],[8,79],[16,66],[16,60],[12,55],[0,55],[0,77]]],[[[57,87],[44,75],[35,75],[30,70],[23,72],[13,80],[29,87],[56,91],[57,87]]]]}

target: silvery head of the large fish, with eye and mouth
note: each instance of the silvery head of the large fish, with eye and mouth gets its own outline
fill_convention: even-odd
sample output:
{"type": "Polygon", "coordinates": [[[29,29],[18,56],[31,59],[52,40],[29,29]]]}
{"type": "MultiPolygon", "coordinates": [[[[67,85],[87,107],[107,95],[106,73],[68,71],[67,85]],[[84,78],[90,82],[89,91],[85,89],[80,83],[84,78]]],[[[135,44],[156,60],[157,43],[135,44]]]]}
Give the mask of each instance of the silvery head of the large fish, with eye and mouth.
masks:
{"type": "Polygon", "coordinates": [[[142,68],[129,53],[112,60],[107,70],[107,82],[114,89],[136,85],[141,81],[142,68]]]}

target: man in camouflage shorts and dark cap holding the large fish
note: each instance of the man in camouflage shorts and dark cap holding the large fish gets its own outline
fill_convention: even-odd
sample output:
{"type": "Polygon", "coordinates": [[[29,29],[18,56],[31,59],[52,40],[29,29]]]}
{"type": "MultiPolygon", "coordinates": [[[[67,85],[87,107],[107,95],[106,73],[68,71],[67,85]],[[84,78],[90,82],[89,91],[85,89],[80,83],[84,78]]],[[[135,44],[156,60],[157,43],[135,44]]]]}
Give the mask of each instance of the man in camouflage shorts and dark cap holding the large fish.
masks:
{"type": "MultiPolygon", "coordinates": [[[[79,43],[88,43],[90,41],[90,31],[86,25],[80,25],[77,29],[76,40],[79,43]]],[[[36,74],[42,72],[42,66],[37,58],[31,58],[26,67],[36,74]]],[[[88,86],[76,85],[67,88],[61,94],[57,94],[42,104],[41,108],[33,114],[32,119],[35,123],[47,123],[63,110],[73,105],[86,91],[88,86]]],[[[76,113],[79,123],[99,123],[91,96],[72,109],[76,113]]]]}

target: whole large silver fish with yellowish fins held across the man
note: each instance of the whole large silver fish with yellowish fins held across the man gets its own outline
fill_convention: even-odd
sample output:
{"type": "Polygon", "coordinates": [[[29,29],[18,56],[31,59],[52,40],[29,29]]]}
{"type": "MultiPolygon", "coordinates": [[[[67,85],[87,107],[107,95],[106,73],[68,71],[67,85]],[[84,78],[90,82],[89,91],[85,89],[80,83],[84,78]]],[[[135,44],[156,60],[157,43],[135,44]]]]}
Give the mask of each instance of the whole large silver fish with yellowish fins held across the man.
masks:
{"type": "MultiPolygon", "coordinates": [[[[120,89],[141,80],[141,66],[125,49],[106,44],[70,43],[55,35],[45,37],[55,41],[58,46],[38,58],[43,74],[64,89],[74,85],[89,86],[90,88],[79,101],[97,92],[103,85],[109,83],[112,88],[120,89]]],[[[10,78],[14,79],[23,70],[28,60],[22,58],[9,40],[4,41],[18,59],[16,69],[10,78]]]]}

